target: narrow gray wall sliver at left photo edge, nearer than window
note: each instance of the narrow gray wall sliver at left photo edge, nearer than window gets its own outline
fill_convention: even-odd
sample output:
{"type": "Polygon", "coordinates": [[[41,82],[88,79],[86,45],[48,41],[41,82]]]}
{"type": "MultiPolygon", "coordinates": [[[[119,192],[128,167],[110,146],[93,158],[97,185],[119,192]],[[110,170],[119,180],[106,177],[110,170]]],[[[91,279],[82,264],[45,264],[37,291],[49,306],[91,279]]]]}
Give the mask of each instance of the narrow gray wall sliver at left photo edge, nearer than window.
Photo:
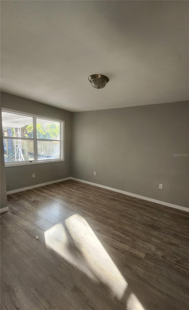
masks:
{"type": "Polygon", "coordinates": [[[0,113],[0,208],[7,207],[7,197],[6,197],[6,179],[5,179],[5,163],[4,163],[4,149],[3,149],[3,136],[2,136],[2,116],[0,113]]]}

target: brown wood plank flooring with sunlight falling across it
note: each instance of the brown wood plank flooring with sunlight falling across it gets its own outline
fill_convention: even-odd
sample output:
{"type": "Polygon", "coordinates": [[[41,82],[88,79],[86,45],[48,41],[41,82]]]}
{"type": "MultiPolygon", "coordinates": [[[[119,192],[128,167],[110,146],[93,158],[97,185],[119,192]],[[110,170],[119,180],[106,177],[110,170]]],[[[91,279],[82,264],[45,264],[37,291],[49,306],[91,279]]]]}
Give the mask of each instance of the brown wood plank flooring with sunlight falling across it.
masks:
{"type": "Polygon", "coordinates": [[[189,213],[73,180],[8,206],[1,310],[189,309],[189,213]]]}

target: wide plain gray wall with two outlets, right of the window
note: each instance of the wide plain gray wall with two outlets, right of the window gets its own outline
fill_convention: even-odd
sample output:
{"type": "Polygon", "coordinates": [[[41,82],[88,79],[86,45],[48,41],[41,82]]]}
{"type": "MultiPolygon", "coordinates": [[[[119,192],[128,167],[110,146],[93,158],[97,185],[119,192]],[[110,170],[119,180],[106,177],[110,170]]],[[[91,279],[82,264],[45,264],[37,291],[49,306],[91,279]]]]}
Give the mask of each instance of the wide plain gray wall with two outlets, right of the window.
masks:
{"type": "Polygon", "coordinates": [[[188,114],[188,101],[74,113],[71,175],[188,207],[189,157],[172,156],[189,153],[188,114]]]}

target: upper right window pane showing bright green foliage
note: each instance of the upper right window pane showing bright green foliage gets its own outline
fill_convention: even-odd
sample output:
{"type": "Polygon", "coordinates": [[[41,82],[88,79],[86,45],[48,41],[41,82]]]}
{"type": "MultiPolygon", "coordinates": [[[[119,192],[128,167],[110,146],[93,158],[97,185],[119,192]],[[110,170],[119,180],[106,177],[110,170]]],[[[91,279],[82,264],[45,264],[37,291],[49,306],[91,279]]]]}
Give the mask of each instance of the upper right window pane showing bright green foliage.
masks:
{"type": "Polygon", "coordinates": [[[37,138],[60,140],[60,123],[37,118],[37,138]]]}

